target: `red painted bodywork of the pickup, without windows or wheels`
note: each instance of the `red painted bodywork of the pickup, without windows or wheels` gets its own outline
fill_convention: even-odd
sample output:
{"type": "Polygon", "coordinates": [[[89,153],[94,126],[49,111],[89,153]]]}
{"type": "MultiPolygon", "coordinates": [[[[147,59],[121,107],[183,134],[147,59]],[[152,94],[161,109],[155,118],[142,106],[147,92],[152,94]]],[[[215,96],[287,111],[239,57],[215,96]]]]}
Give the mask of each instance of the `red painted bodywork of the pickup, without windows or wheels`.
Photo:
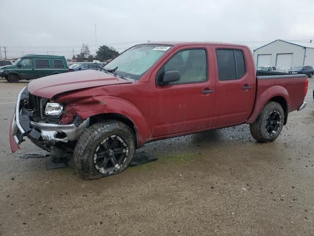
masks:
{"type": "Polygon", "coordinates": [[[66,103],[66,111],[71,113],[62,117],[62,123],[70,123],[73,114],[82,119],[105,113],[129,118],[136,128],[139,147],[153,140],[252,123],[265,103],[275,96],[285,98],[289,112],[297,110],[304,100],[304,77],[256,79],[254,59],[246,46],[208,42],[161,44],[174,47],[136,83],[87,70],[34,80],[29,83],[28,90],[37,96],[66,103]],[[207,50],[209,80],[157,86],[157,71],[176,52],[189,48],[207,50]],[[218,80],[216,48],[243,50],[246,74],[241,79],[218,80]],[[244,86],[252,89],[243,90],[244,86]],[[202,94],[201,91],[206,89],[214,89],[214,92],[202,94]]]}

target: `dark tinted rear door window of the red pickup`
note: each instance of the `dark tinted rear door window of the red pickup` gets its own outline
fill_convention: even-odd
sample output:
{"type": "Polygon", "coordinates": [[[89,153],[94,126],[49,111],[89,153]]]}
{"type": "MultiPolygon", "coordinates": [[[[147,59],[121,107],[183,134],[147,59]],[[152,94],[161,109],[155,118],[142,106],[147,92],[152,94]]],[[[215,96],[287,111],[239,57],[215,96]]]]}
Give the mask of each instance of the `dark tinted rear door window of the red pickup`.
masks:
{"type": "Polygon", "coordinates": [[[239,49],[216,49],[218,78],[220,81],[238,80],[246,73],[243,51],[239,49]]]}

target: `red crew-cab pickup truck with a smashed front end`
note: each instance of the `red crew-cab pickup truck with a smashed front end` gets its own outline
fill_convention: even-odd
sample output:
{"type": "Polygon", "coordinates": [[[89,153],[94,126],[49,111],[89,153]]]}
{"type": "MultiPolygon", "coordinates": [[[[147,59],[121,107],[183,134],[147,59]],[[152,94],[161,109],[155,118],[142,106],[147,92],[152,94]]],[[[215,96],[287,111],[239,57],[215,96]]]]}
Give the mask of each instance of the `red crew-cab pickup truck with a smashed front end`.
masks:
{"type": "Polygon", "coordinates": [[[251,50],[226,43],[147,43],[101,70],[48,76],[18,95],[10,126],[49,150],[74,150],[86,179],[119,173],[147,142],[250,124],[260,142],[274,141],[288,113],[301,110],[306,75],[256,76],[251,50]]]}

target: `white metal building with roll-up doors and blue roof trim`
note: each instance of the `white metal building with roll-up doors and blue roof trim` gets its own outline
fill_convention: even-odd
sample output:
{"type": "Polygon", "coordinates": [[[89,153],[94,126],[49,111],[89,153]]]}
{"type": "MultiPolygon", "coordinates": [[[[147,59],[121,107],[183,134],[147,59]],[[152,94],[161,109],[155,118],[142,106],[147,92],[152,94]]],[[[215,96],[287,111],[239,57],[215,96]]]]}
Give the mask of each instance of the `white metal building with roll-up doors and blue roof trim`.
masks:
{"type": "Polygon", "coordinates": [[[277,39],[254,50],[257,66],[276,65],[291,69],[293,66],[314,67],[314,43],[277,39]]]}

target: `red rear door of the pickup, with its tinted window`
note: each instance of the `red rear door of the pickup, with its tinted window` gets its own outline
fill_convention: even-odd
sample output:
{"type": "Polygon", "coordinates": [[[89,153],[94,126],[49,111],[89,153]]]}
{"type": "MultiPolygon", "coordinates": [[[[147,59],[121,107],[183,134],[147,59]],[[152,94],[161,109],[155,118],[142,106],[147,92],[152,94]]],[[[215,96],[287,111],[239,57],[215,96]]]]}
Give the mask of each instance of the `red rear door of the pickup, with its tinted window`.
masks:
{"type": "Polygon", "coordinates": [[[251,54],[244,47],[212,47],[217,71],[213,126],[243,123],[254,104],[256,75],[251,54]]]}

